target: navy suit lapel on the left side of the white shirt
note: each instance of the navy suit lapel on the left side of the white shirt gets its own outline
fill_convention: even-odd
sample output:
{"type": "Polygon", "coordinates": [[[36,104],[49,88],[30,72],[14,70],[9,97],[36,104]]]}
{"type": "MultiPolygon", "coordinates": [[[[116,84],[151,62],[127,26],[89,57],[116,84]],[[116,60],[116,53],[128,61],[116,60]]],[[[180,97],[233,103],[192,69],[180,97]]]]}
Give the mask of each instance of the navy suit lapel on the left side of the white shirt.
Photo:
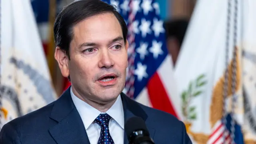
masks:
{"type": "Polygon", "coordinates": [[[70,88],[54,103],[50,118],[58,122],[49,132],[58,144],[90,144],[70,88]]]}

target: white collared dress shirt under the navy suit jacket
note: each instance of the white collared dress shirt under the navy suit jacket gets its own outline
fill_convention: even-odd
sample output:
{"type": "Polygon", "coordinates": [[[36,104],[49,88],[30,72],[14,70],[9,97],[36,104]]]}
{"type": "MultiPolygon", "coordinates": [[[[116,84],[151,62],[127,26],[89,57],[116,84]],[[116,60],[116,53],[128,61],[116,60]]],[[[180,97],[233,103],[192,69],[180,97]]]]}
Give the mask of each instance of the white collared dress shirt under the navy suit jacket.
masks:
{"type": "MultiPolygon", "coordinates": [[[[76,97],[71,88],[70,94],[76,109],[82,118],[90,144],[98,144],[101,128],[98,124],[94,123],[94,120],[100,114],[104,113],[76,97]]],[[[114,143],[124,144],[124,110],[120,95],[113,106],[106,111],[106,113],[112,117],[109,122],[109,132],[110,136],[114,140],[114,143]]]]}

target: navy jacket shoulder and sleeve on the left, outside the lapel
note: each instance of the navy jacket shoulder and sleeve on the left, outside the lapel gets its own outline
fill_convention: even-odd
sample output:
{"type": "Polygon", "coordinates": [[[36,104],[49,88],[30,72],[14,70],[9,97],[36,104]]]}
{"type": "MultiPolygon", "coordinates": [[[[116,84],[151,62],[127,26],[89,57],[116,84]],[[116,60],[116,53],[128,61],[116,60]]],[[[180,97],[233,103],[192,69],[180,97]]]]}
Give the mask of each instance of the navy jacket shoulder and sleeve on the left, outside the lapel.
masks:
{"type": "Polygon", "coordinates": [[[0,143],[36,144],[50,140],[49,128],[56,125],[50,118],[55,101],[4,124],[0,131],[0,143]]]}

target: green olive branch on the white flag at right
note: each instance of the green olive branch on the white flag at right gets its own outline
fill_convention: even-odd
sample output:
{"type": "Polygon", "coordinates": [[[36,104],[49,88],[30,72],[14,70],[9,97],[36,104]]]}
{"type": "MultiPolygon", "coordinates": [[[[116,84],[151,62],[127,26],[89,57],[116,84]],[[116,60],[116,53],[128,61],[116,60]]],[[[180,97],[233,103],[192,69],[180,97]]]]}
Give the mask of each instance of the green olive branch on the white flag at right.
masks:
{"type": "Polygon", "coordinates": [[[182,114],[186,121],[196,119],[196,106],[190,106],[190,102],[192,98],[202,94],[200,88],[206,84],[204,78],[204,74],[199,75],[196,80],[190,81],[188,90],[182,92],[182,114]]]}

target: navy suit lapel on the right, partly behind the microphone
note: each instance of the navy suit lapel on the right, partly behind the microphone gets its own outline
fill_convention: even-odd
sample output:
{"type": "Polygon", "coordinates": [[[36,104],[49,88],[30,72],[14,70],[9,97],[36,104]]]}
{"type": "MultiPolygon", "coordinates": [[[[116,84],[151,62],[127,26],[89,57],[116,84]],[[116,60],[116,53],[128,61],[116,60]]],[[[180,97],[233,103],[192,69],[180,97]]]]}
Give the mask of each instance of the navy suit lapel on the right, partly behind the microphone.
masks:
{"type": "MultiPolygon", "coordinates": [[[[141,117],[148,128],[148,131],[150,133],[150,137],[154,138],[155,129],[152,127],[154,126],[153,122],[151,122],[148,119],[148,115],[146,112],[140,107],[140,105],[135,102],[134,100],[128,98],[124,93],[121,93],[122,103],[124,107],[124,122],[126,122],[129,118],[132,118],[134,116],[141,117]]],[[[124,144],[129,144],[127,134],[124,130],[124,144]]]]}

